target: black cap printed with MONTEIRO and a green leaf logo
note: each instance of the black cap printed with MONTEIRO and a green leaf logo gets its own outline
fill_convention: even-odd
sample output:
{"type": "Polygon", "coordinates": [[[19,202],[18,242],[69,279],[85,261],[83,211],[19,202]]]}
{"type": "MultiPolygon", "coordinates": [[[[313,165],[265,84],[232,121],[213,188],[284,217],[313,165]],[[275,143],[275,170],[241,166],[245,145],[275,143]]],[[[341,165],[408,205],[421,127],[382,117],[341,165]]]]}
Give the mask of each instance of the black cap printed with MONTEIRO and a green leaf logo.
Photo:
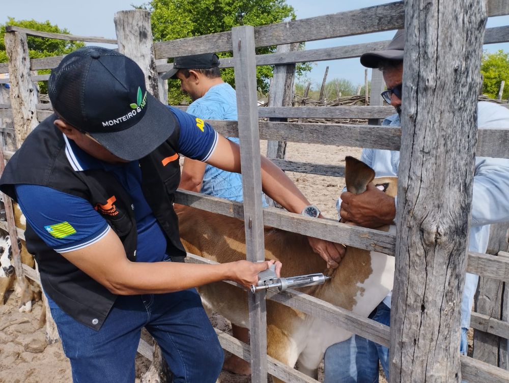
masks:
{"type": "Polygon", "coordinates": [[[147,92],[142,69],[115,50],[69,53],[51,71],[48,93],[62,119],[124,160],[147,156],[175,130],[175,116],[147,92]]]}

